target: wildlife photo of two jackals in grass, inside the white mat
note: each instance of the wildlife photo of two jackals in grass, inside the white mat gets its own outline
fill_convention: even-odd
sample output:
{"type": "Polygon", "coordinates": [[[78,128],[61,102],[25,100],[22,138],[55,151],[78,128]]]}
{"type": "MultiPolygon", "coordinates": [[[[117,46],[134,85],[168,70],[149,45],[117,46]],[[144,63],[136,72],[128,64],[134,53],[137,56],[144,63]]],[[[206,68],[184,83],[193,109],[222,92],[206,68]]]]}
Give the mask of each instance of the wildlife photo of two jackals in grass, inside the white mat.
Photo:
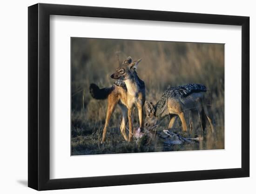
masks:
{"type": "Polygon", "coordinates": [[[71,37],[71,155],[224,149],[224,44],[71,37]]]}

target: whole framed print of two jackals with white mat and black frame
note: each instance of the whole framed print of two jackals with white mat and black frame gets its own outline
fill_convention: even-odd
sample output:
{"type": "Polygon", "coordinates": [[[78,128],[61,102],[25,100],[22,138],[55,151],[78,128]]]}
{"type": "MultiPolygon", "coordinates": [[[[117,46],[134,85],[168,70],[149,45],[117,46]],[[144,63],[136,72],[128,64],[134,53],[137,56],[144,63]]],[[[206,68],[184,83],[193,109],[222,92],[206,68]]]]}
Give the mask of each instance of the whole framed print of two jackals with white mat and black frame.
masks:
{"type": "Polygon", "coordinates": [[[249,17],[28,7],[28,186],[249,176],[249,17]]]}

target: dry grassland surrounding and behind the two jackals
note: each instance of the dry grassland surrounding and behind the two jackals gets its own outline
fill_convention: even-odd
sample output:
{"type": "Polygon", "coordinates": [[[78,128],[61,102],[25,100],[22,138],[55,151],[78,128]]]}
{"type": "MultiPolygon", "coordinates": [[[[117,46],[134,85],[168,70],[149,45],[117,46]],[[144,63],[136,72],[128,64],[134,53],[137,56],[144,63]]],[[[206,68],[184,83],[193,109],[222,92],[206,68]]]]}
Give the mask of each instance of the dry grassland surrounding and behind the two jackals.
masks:
{"type": "MultiPolygon", "coordinates": [[[[72,38],[71,54],[72,155],[224,148],[223,44],[72,38]],[[213,113],[216,135],[210,133],[207,125],[205,138],[200,143],[168,146],[157,135],[154,139],[145,137],[138,142],[128,143],[120,134],[121,110],[117,107],[110,120],[106,142],[101,145],[107,100],[94,100],[88,88],[90,83],[96,83],[99,87],[113,84],[110,74],[118,66],[116,52],[120,60],[128,56],[134,60],[142,58],[137,72],[146,85],[146,100],[154,104],[168,87],[187,83],[204,84],[213,98],[209,109],[213,113]]],[[[189,113],[186,113],[186,117],[189,126],[189,113]]],[[[139,126],[138,121],[135,110],[134,127],[139,126]]],[[[156,132],[162,133],[168,121],[168,118],[163,119],[156,132]]],[[[200,126],[200,119],[194,119],[191,137],[201,134],[200,126]]],[[[175,123],[175,131],[182,134],[179,120],[175,123]]]]}

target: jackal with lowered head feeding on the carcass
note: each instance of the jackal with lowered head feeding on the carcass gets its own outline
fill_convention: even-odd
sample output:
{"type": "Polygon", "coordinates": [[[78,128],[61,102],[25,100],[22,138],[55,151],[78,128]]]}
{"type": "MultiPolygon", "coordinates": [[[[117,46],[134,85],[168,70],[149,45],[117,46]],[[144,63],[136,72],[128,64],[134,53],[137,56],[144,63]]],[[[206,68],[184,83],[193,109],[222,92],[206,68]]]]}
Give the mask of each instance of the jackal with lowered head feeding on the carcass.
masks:
{"type": "MultiPolygon", "coordinates": [[[[205,128],[205,119],[207,118],[214,132],[212,119],[209,116],[207,106],[209,106],[209,99],[206,95],[206,87],[201,84],[187,84],[186,86],[171,87],[166,90],[161,99],[153,105],[152,102],[145,102],[146,114],[149,117],[149,122],[146,126],[154,122],[154,118],[161,119],[170,115],[170,122],[168,128],[172,128],[177,117],[182,121],[183,131],[187,131],[187,123],[184,113],[186,111],[199,113],[202,118],[202,130],[205,128]],[[206,118],[205,118],[206,117],[206,118]]],[[[154,123],[155,124],[155,123],[154,123]]],[[[190,131],[191,133],[191,131],[190,131]]]]}

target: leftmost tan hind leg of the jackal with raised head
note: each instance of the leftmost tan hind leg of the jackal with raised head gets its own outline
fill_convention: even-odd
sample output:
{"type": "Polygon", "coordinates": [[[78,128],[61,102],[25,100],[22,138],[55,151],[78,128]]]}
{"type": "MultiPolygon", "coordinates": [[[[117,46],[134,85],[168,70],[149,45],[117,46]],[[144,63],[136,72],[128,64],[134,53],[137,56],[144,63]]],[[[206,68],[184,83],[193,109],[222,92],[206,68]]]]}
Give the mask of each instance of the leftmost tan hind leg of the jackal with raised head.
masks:
{"type": "Polygon", "coordinates": [[[104,126],[104,129],[103,129],[101,143],[103,143],[106,139],[108,123],[109,123],[109,120],[111,118],[112,113],[115,110],[115,105],[117,104],[118,100],[119,99],[118,99],[117,96],[114,96],[114,95],[111,95],[111,94],[108,96],[108,110],[107,110],[107,116],[106,116],[105,126],[104,126]]]}

